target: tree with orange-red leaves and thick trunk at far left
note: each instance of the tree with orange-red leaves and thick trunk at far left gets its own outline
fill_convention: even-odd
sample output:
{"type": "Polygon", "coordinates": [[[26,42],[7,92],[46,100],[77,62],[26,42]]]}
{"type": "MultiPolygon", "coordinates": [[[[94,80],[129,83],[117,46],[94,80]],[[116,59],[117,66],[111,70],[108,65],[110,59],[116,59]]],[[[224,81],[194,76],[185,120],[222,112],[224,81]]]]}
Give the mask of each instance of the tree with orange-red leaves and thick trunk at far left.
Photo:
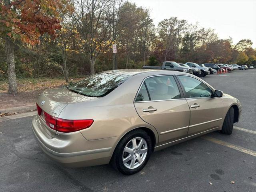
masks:
{"type": "Polygon", "coordinates": [[[10,94],[16,94],[14,43],[38,44],[40,35],[55,36],[60,29],[59,12],[68,10],[68,0],[4,0],[0,3],[0,36],[5,40],[10,94]]]}

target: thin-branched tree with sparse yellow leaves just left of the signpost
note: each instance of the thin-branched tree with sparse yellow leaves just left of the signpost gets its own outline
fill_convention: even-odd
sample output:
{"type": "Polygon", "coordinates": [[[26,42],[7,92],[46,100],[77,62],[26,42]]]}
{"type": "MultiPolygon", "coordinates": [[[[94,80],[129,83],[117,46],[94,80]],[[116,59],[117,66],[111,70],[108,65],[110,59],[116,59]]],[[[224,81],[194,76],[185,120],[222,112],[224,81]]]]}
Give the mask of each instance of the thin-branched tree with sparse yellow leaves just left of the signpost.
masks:
{"type": "Polygon", "coordinates": [[[90,74],[95,73],[95,61],[114,42],[108,36],[113,0],[77,0],[73,18],[82,39],[83,50],[90,61],[90,74]]]}

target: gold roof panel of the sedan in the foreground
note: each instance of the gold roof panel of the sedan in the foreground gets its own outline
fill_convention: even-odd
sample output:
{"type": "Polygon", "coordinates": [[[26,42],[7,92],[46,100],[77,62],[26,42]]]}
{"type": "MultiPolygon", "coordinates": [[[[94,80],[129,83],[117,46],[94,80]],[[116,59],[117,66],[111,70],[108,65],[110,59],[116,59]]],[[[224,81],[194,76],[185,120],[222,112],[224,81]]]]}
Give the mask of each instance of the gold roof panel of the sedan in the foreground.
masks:
{"type": "MultiPolygon", "coordinates": [[[[155,74],[184,74],[184,72],[172,71],[172,70],[162,70],[162,69],[117,69],[104,71],[106,73],[122,74],[128,76],[134,76],[138,74],[145,73],[155,73],[155,74]]],[[[186,73],[188,74],[188,73],[186,73]]]]}

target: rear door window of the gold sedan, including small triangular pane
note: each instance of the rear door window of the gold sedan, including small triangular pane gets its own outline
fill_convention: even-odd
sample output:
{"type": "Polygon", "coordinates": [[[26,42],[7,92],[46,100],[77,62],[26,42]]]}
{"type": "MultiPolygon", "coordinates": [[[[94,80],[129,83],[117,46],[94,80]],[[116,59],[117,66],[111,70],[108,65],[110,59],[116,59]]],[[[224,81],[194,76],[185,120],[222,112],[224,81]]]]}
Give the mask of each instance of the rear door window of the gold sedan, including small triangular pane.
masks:
{"type": "MultiPolygon", "coordinates": [[[[180,91],[174,80],[173,76],[156,76],[147,78],[144,82],[148,89],[150,95],[149,99],[152,101],[156,100],[170,100],[170,99],[180,99],[180,91]]],[[[139,101],[141,95],[146,94],[144,91],[144,86],[140,89],[138,96],[135,101],[139,101]],[[142,94],[143,93],[143,94],[142,94]]],[[[147,98],[144,96],[144,98],[147,98]]]]}

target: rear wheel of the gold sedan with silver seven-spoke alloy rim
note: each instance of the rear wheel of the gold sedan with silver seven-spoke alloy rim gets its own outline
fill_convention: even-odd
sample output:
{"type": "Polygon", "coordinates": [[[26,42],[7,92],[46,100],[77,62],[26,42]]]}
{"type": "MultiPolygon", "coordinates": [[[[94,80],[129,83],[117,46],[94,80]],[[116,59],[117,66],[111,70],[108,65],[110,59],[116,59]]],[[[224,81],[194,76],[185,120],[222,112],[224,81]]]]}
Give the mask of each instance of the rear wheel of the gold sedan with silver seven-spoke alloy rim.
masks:
{"type": "Polygon", "coordinates": [[[120,171],[122,174],[131,175],[139,172],[144,168],[144,166],[147,164],[150,158],[151,153],[152,153],[152,140],[150,136],[144,130],[140,130],[140,129],[134,130],[126,134],[120,140],[120,142],[116,146],[116,149],[113,153],[111,164],[116,170],[120,171]],[[146,144],[144,143],[140,149],[138,148],[134,149],[134,143],[133,143],[134,139],[137,145],[140,144],[140,141],[141,141],[140,139],[143,139],[142,142],[146,142],[146,144]],[[124,150],[125,148],[129,149],[129,153],[124,150]],[[147,148],[147,151],[142,152],[142,150],[145,150],[145,148],[147,148]],[[132,152],[130,150],[132,150],[132,152]],[[140,156],[140,160],[142,160],[141,163],[138,160],[139,159],[138,156],[140,156]],[[123,161],[127,157],[128,159],[130,158],[130,160],[124,163],[123,161]],[[134,161],[133,167],[132,167],[132,161],[134,161]]]}

